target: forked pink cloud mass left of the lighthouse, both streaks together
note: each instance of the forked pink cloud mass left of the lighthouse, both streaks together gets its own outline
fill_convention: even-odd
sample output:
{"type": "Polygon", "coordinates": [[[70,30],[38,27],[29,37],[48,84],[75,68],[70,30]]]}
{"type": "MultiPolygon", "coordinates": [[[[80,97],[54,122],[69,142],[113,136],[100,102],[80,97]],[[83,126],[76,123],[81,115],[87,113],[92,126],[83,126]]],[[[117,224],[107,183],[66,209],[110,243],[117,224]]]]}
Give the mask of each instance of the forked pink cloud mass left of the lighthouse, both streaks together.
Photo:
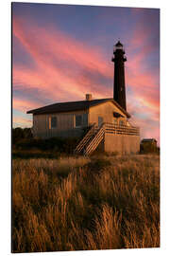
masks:
{"type": "Polygon", "coordinates": [[[111,76],[110,68],[104,64],[102,56],[96,49],[89,49],[59,31],[52,33],[38,27],[34,27],[33,31],[31,27],[29,30],[25,30],[22,22],[18,19],[14,19],[13,33],[37,64],[34,70],[14,65],[13,88],[16,84],[41,88],[43,91],[48,91],[48,95],[51,94],[54,101],[55,97],[65,100],[67,95],[70,99],[84,99],[87,85],[88,90],[96,98],[102,98],[103,94],[108,95],[103,84],[97,84],[96,92],[95,84],[88,77],[84,77],[82,74],[74,75],[75,64],[79,64],[83,69],[88,68],[91,72],[96,71],[101,75],[111,76]],[[67,70],[71,76],[65,74],[59,65],[54,64],[58,60],[65,60],[71,65],[67,70]]]}

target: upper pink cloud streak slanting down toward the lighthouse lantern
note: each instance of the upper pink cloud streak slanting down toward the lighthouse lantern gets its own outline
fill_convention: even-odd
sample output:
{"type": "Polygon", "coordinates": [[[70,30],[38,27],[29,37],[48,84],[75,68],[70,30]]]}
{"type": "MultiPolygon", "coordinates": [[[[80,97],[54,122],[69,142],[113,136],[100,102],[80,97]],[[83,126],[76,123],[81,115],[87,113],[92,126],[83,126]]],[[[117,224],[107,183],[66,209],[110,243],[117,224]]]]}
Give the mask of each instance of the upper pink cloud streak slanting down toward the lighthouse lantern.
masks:
{"type": "Polygon", "coordinates": [[[58,58],[67,62],[73,61],[91,70],[97,70],[103,75],[111,76],[110,69],[104,64],[100,50],[96,47],[92,49],[84,46],[57,29],[36,27],[35,24],[27,28],[28,30],[25,30],[21,19],[14,17],[13,34],[42,67],[44,60],[47,65],[52,64],[53,58],[58,58]]]}

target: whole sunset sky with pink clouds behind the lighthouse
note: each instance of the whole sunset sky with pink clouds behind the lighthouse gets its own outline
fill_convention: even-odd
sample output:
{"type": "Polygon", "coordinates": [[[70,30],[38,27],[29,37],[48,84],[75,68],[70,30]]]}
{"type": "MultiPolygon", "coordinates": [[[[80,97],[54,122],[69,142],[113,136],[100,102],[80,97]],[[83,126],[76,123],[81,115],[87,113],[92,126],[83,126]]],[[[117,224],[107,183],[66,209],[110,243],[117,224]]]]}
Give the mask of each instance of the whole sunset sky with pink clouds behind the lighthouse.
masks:
{"type": "Polygon", "coordinates": [[[30,109],[112,98],[118,40],[129,121],[160,143],[160,9],[12,3],[13,127],[32,126],[30,109]]]}

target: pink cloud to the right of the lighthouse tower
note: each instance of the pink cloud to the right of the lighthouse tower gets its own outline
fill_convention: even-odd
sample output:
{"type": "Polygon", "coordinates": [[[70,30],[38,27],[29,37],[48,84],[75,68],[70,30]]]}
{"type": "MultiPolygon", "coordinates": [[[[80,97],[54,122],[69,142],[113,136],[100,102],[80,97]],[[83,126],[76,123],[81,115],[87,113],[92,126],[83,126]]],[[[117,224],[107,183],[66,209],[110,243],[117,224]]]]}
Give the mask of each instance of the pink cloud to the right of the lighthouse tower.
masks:
{"type": "MultiPolygon", "coordinates": [[[[137,10],[138,11],[138,10],[137,10]]],[[[141,102],[152,115],[160,113],[160,75],[148,70],[146,57],[154,50],[154,46],[147,43],[150,28],[138,25],[131,38],[128,48],[132,58],[127,62],[126,81],[133,91],[133,97],[141,102]],[[134,49],[138,50],[135,55],[132,53],[134,49]]]]}

